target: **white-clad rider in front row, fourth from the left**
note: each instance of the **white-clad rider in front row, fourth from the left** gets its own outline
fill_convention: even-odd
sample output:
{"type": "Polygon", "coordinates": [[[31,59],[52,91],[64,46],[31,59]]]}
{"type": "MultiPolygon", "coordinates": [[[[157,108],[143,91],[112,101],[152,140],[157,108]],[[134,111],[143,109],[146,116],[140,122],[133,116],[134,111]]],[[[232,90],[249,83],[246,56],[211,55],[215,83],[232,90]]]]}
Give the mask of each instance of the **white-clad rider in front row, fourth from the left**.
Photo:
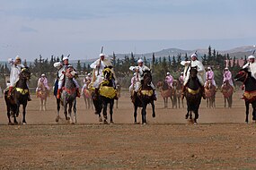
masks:
{"type": "MultiPolygon", "coordinates": [[[[130,66],[129,67],[129,70],[130,71],[133,71],[133,72],[137,72],[137,76],[138,76],[138,83],[136,83],[136,86],[135,86],[135,92],[138,91],[138,89],[141,87],[142,85],[142,81],[144,79],[143,77],[143,72],[145,71],[151,71],[146,65],[143,64],[143,60],[142,59],[139,59],[137,60],[137,66],[130,66]]],[[[149,86],[155,90],[154,88],[154,84],[153,82],[151,81],[151,83],[149,84],[149,86]]],[[[154,100],[156,100],[156,96],[155,96],[155,93],[154,93],[154,100]]]]}

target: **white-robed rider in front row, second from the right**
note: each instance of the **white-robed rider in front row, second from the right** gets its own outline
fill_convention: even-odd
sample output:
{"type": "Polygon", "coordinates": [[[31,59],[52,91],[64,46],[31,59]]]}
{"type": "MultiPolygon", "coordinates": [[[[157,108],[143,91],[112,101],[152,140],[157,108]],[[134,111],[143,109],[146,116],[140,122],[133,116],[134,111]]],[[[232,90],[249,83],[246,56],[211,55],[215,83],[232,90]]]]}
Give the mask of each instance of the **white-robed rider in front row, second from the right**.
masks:
{"type": "Polygon", "coordinates": [[[190,79],[190,67],[195,67],[197,66],[198,69],[198,80],[201,85],[201,90],[202,90],[202,97],[206,99],[206,94],[205,94],[205,89],[204,89],[204,84],[205,84],[205,67],[204,65],[198,60],[198,55],[196,53],[190,55],[191,60],[190,61],[182,61],[181,65],[185,65],[184,69],[184,83],[182,87],[182,93],[181,93],[181,99],[184,98],[184,92],[186,89],[186,85],[190,79]]]}

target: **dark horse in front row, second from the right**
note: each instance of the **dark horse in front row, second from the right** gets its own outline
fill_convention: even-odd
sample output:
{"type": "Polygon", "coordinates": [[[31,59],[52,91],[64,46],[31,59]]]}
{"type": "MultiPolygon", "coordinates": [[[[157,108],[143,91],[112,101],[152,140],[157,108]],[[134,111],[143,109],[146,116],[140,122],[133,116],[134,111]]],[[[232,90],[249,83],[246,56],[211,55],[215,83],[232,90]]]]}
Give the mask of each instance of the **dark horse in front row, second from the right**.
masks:
{"type": "Polygon", "coordinates": [[[196,67],[190,67],[190,78],[186,85],[185,98],[187,100],[187,115],[185,118],[192,120],[192,112],[194,112],[194,123],[199,119],[199,106],[202,98],[202,89],[198,79],[198,70],[196,67]]]}

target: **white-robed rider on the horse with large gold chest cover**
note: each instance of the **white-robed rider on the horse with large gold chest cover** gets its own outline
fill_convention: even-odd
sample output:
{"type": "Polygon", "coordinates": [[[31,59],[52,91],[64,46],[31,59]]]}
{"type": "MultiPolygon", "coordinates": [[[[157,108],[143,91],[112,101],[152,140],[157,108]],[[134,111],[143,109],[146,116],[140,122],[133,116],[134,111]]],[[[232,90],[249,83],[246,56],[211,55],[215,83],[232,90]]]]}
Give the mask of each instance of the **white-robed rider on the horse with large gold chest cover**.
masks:
{"type": "MultiPolygon", "coordinates": [[[[95,98],[97,96],[99,96],[99,88],[100,88],[100,84],[102,83],[102,81],[104,80],[103,77],[103,70],[105,67],[112,67],[112,64],[110,63],[110,60],[105,57],[106,55],[104,54],[100,54],[100,58],[97,59],[95,62],[93,62],[93,64],[90,65],[90,67],[93,69],[93,87],[95,88],[95,98]]],[[[114,85],[114,89],[116,89],[116,84],[117,84],[117,79],[116,79],[116,75],[115,72],[113,71],[113,69],[111,68],[111,72],[113,73],[113,85],[114,85]]]]}

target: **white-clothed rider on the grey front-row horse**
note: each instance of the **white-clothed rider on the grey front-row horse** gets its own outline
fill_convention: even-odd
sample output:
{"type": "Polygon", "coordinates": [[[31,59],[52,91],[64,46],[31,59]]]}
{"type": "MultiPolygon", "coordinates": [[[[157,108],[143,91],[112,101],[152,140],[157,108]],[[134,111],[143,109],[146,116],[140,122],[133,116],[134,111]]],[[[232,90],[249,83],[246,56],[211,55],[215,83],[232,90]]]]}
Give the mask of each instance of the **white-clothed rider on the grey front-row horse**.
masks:
{"type": "MultiPolygon", "coordinates": [[[[57,83],[57,98],[60,98],[60,91],[62,90],[66,69],[67,69],[67,66],[69,65],[67,56],[63,57],[62,61],[63,61],[63,64],[59,64],[58,62],[54,64],[54,66],[60,67],[60,69],[57,71],[57,77],[59,78],[57,83]]],[[[73,78],[73,81],[75,83],[75,88],[76,88],[76,97],[80,98],[79,84],[77,83],[77,81],[75,81],[75,78],[73,78]]]]}

